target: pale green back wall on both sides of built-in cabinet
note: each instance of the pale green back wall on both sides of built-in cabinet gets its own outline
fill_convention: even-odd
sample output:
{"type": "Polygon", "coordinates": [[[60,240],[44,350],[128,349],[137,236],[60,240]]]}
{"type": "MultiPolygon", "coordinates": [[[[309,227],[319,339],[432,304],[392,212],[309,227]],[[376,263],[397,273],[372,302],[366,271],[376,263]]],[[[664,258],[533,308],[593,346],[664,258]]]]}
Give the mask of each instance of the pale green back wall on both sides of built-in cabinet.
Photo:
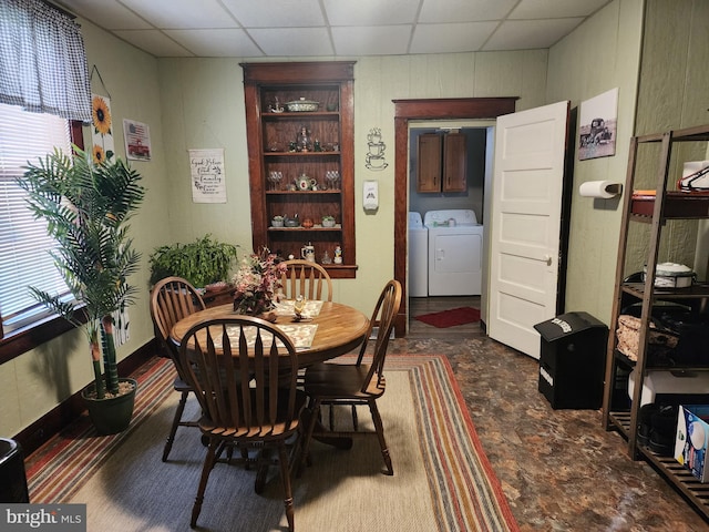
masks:
{"type": "MultiPolygon", "coordinates": [[[[520,109],[544,103],[545,50],[353,58],[354,64],[354,215],[357,279],[335,279],[335,298],[369,314],[381,287],[393,276],[394,99],[521,96],[520,109]],[[381,129],[389,166],[364,165],[367,134],[381,129]],[[374,214],[362,205],[362,184],[379,182],[374,214]]],[[[304,58],[305,59],[305,58],[304,58]]],[[[174,239],[212,232],[250,250],[248,155],[242,59],[165,59],[160,61],[165,154],[171,181],[171,232],[174,239]],[[226,204],[195,205],[189,193],[187,150],[224,147],[226,204]]]]}

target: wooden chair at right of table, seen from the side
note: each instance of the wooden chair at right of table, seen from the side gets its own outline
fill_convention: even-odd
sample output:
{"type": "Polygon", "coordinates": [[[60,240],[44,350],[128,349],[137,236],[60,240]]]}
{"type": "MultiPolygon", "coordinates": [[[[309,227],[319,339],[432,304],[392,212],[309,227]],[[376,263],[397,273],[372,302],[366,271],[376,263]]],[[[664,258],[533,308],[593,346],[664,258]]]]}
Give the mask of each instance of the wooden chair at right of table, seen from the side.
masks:
{"type": "Polygon", "coordinates": [[[393,474],[394,470],[389,456],[384,427],[377,408],[377,400],[383,396],[387,389],[384,379],[384,359],[389,347],[389,338],[393,328],[394,317],[401,305],[401,284],[390,280],[384,286],[370,320],[370,330],[362,344],[354,364],[321,362],[306,369],[305,391],[309,398],[308,410],[310,420],[306,432],[301,461],[298,467],[300,472],[308,460],[310,442],[318,438],[352,438],[357,436],[377,436],[384,459],[387,474],[393,474]],[[372,337],[373,327],[378,327],[374,346],[368,349],[369,339],[372,337]],[[368,354],[371,351],[371,354],[368,354]],[[330,412],[336,407],[349,406],[352,412],[351,430],[325,430],[320,422],[320,410],[323,405],[330,407],[330,412]],[[360,430],[357,421],[358,406],[368,406],[374,423],[374,431],[360,430]],[[318,430],[316,430],[318,427],[318,430]]]}

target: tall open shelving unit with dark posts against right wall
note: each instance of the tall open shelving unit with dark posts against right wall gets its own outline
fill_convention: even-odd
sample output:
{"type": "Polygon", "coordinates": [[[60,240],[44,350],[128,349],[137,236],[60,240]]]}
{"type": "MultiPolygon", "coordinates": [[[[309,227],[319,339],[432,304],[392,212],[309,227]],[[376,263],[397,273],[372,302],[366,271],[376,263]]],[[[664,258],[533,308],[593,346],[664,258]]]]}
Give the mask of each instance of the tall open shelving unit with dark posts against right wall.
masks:
{"type": "MultiPolygon", "coordinates": [[[[618,245],[618,259],[616,265],[614,306],[610,318],[610,330],[618,327],[618,316],[626,306],[631,303],[628,296],[641,303],[640,338],[645,341],[638,346],[637,360],[630,360],[620,354],[617,348],[616,335],[608,339],[606,355],[606,379],[604,388],[603,419],[607,430],[617,429],[627,440],[628,456],[633,460],[645,458],[660,472],[668,482],[672,483],[705,518],[709,519],[709,484],[702,484],[691,472],[677,462],[672,457],[659,457],[649,448],[638,441],[637,420],[639,417],[641,391],[645,378],[649,371],[709,371],[706,366],[670,366],[657,364],[659,358],[653,358],[648,342],[648,328],[651,315],[662,304],[669,301],[679,303],[692,311],[703,305],[703,299],[709,298],[709,283],[696,283],[686,288],[658,288],[655,286],[646,289],[645,283],[625,283],[626,255],[628,254],[628,233],[630,222],[640,222],[650,225],[647,236],[647,254],[645,267],[647,272],[655,272],[658,257],[661,256],[662,229],[666,221],[671,219],[705,219],[709,218],[709,194],[668,191],[674,187],[675,177],[670,177],[671,170],[681,161],[672,160],[672,143],[675,142],[707,142],[709,141],[709,125],[674,130],[662,133],[640,135],[630,139],[628,152],[628,167],[625,190],[635,191],[624,197],[623,223],[620,226],[620,239],[618,245]],[[638,163],[639,146],[647,143],[660,144],[656,152],[659,160],[654,164],[657,170],[657,182],[654,190],[636,191],[634,183],[638,163]],[[617,395],[619,379],[627,378],[627,369],[633,368],[636,386],[633,389],[629,403],[617,395]],[[629,407],[628,407],[629,406],[629,407]]],[[[706,146],[705,146],[706,149],[706,146]]],[[[647,155],[653,156],[650,152],[647,155]]],[[[650,162],[644,160],[643,168],[650,162]]],[[[651,283],[651,280],[648,280],[651,283]]],[[[639,338],[638,338],[639,339],[639,338]]],[[[692,359],[693,364],[700,364],[699,359],[692,359]]],[[[681,393],[681,389],[675,390],[681,393]]]]}

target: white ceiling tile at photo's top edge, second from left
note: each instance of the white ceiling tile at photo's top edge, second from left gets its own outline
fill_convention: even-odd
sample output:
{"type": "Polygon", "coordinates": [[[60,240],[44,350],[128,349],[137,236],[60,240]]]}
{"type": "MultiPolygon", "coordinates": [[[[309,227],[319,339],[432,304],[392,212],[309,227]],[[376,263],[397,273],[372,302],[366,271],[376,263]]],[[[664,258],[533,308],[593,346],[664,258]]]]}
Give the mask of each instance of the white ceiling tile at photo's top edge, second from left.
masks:
{"type": "Polygon", "coordinates": [[[236,28],[238,24],[216,0],[121,0],[158,29],[236,28]]]}

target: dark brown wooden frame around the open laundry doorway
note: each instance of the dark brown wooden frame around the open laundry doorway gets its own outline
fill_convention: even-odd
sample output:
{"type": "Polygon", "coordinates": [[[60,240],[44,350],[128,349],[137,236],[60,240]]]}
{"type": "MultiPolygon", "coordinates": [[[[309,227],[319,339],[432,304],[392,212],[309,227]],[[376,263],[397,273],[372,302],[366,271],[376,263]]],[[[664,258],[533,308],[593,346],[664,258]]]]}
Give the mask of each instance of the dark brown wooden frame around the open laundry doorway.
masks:
{"type": "Polygon", "coordinates": [[[409,256],[409,121],[494,120],[515,112],[520,96],[392,100],[394,103],[394,279],[404,297],[394,318],[394,335],[407,331],[407,259],[409,256]]]}

